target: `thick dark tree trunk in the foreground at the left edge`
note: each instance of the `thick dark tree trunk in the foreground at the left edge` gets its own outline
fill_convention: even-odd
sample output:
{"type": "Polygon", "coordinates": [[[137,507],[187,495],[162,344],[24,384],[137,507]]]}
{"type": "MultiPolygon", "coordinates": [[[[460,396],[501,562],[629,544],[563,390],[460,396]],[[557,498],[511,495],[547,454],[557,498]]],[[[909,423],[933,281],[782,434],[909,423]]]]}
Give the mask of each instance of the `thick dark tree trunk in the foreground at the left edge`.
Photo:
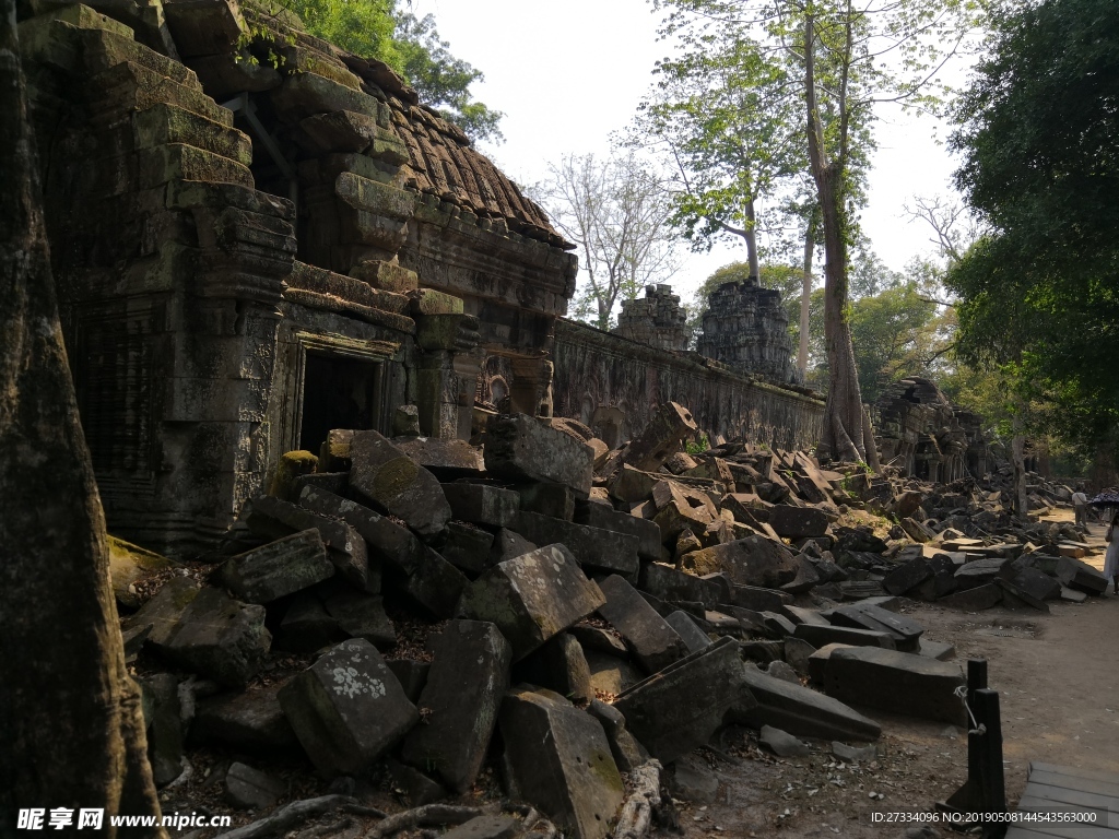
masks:
{"type": "Polygon", "coordinates": [[[0,833],[20,809],[72,808],[69,836],[81,808],[101,808],[90,835],[112,837],[112,816],[159,803],[58,322],[15,6],[0,0],[0,833]]]}

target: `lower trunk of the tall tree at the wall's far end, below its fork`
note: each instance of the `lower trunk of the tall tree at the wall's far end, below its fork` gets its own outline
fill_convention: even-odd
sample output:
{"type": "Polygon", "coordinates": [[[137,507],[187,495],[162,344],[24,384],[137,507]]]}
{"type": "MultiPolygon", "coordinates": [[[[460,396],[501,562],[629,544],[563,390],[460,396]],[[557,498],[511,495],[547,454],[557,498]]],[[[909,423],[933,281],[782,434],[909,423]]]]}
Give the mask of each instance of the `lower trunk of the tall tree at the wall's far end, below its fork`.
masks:
{"type": "Polygon", "coordinates": [[[817,179],[824,224],[824,339],[828,351],[828,397],[819,452],[825,458],[865,461],[863,395],[847,320],[847,242],[843,196],[834,167],[817,179]]]}

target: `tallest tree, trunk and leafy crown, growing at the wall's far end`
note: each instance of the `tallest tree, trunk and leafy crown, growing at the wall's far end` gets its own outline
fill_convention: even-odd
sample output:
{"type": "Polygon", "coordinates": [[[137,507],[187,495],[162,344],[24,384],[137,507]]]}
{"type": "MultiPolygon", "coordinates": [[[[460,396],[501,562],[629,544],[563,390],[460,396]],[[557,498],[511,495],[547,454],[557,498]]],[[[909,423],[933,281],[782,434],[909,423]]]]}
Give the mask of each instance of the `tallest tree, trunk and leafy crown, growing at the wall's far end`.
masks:
{"type": "Polygon", "coordinates": [[[696,18],[739,26],[800,81],[809,170],[825,251],[830,371],[819,451],[863,460],[873,435],[850,339],[848,249],[856,230],[859,160],[873,148],[875,106],[929,101],[937,72],[968,30],[969,0],[660,0],[668,27],[696,18]],[[894,69],[895,68],[895,69],[894,69]]]}

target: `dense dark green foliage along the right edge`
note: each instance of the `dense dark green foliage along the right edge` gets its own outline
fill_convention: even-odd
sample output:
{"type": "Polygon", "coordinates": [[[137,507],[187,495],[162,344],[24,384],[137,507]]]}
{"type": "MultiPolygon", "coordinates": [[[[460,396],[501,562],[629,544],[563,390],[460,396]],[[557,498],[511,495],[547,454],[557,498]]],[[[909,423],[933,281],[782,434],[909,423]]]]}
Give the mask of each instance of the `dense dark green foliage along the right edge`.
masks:
{"type": "Polygon", "coordinates": [[[956,109],[957,185],[990,233],[950,271],[959,346],[1094,446],[1119,426],[1119,16],[1110,0],[1010,8],[956,109]]]}

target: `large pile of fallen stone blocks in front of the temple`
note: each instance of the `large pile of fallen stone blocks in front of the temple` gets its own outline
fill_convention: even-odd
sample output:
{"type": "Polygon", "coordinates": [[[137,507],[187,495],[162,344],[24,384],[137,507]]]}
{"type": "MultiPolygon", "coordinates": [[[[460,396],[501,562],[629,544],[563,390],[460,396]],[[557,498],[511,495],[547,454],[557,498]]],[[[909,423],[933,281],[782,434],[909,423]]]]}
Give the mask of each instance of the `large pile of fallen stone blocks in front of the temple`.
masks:
{"type": "Polygon", "coordinates": [[[656,771],[725,725],[782,751],[876,739],[848,704],[961,724],[952,650],[897,595],[1046,609],[1103,587],[1074,531],[1012,525],[1000,491],[737,442],[688,454],[696,427],[673,403],[615,451],[525,415],[490,417],[480,445],[420,437],[407,409],[396,431],[285,455],[208,579],[179,569],[124,619],[158,783],[208,745],[237,756],[235,807],[285,796],[266,771],[284,754],[341,790],[383,767],[422,807],[488,764],[546,819],[487,816],[464,836],[599,839],[624,779],[653,771],[655,810],[656,771]],[[840,525],[855,508],[893,517],[890,538],[840,525]],[[312,663],[262,682],[292,653],[312,663]]]}

